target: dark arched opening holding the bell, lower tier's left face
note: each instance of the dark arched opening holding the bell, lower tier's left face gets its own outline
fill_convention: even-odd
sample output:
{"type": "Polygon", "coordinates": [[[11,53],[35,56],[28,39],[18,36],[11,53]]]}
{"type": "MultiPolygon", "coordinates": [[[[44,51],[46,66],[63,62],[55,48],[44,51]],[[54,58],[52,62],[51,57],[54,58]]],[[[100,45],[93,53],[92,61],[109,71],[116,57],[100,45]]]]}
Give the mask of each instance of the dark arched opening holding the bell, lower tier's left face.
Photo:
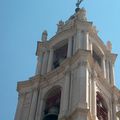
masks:
{"type": "Polygon", "coordinates": [[[57,120],[60,111],[61,89],[53,88],[45,99],[43,120],[57,120]]]}

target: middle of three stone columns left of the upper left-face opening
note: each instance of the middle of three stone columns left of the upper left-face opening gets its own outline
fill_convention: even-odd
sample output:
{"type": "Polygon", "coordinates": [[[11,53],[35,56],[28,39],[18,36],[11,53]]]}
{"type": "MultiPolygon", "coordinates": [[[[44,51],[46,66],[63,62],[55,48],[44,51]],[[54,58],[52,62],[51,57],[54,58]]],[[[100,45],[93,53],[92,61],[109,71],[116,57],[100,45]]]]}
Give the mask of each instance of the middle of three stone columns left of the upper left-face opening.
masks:
{"type": "Polygon", "coordinates": [[[41,74],[44,75],[47,72],[47,63],[48,63],[48,51],[46,50],[43,57],[42,71],[41,74]]]}

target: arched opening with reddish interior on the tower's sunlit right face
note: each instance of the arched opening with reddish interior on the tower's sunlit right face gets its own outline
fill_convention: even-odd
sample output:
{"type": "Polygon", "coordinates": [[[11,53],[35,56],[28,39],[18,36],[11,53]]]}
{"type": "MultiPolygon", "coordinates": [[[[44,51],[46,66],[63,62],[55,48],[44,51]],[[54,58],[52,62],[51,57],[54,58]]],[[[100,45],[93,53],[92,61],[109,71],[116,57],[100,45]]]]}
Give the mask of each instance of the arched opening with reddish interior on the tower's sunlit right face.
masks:
{"type": "Polygon", "coordinates": [[[103,97],[97,92],[97,117],[98,120],[108,120],[108,110],[103,97]]]}

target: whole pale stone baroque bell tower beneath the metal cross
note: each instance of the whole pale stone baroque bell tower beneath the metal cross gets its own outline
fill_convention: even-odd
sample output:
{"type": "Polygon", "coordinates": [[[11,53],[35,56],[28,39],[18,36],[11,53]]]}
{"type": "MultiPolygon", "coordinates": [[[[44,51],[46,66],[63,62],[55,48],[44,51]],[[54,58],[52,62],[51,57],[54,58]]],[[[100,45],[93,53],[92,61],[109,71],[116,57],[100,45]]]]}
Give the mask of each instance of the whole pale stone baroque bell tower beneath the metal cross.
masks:
{"type": "Polygon", "coordinates": [[[83,8],[57,26],[37,43],[36,75],[18,82],[15,120],[119,120],[111,43],[101,41],[83,8]]]}

